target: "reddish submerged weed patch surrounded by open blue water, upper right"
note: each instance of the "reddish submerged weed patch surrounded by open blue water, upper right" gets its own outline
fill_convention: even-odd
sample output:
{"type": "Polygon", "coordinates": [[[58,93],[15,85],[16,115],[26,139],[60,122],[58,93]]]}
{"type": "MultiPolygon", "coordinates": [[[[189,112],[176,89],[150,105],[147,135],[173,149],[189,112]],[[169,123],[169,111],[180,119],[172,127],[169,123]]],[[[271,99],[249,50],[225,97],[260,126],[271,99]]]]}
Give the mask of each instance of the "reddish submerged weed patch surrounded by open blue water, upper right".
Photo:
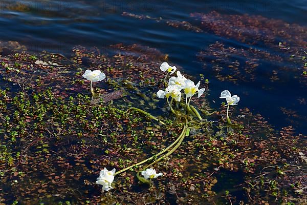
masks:
{"type": "Polygon", "coordinates": [[[288,81],[291,73],[290,79],[298,80],[304,86],[307,84],[307,57],[304,50],[307,47],[307,28],[304,26],[264,16],[229,15],[216,11],[191,13],[193,22],[199,20],[200,25],[128,12],[122,15],[156,20],[192,32],[212,32],[246,44],[236,48],[216,42],[199,52],[198,57],[204,67],[214,71],[219,80],[229,80],[235,84],[240,80],[255,81],[257,72],[264,69],[261,67],[271,65],[275,70],[266,70],[270,81],[288,81]],[[266,49],[258,49],[259,46],[265,46],[266,49]]]}

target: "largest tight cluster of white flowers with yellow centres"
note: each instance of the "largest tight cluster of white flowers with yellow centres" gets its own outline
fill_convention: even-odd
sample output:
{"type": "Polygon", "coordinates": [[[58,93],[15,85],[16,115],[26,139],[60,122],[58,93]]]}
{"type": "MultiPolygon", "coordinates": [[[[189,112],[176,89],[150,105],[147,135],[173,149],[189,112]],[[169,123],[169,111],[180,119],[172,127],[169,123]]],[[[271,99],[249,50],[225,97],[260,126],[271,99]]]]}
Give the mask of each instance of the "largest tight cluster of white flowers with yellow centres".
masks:
{"type": "MultiPolygon", "coordinates": [[[[177,68],[174,66],[171,67],[164,62],[161,64],[160,70],[164,72],[167,71],[172,74],[177,70],[177,68]]],[[[186,95],[186,99],[191,98],[195,94],[198,94],[198,97],[200,97],[205,91],[205,88],[199,89],[200,84],[201,82],[199,81],[198,84],[195,85],[192,80],[187,79],[180,73],[180,71],[177,71],[177,77],[170,77],[165,91],[159,90],[157,92],[157,96],[159,98],[172,97],[176,101],[180,101],[181,91],[183,90],[184,94],[186,95]]]]}

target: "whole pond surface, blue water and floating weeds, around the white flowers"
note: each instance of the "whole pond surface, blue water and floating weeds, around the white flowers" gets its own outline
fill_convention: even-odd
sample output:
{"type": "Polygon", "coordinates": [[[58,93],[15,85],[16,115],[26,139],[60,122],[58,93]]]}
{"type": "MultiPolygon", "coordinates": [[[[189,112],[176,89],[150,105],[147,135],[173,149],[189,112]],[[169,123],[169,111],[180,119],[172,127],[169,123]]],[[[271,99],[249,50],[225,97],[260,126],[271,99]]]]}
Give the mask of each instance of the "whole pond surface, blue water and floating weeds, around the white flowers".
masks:
{"type": "Polygon", "coordinates": [[[0,205],[306,202],[307,1],[0,4],[0,205]],[[202,80],[205,97],[195,105],[203,114],[221,112],[156,167],[165,181],[148,189],[130,172],[101,193],[100,169],[130,166],[181,132],[176,119],[161,128],[124,107],[174,119],[164,101],[148,100],[161,89],[164,60],[202,80]],[[91,101],[81,77],[87,68],[111,78],[95,87],[114,104],[95,107],[100,98],[91,101]],[[223,124],[223,90],[240,96],[231,109],[240,128],[223,124]]]}

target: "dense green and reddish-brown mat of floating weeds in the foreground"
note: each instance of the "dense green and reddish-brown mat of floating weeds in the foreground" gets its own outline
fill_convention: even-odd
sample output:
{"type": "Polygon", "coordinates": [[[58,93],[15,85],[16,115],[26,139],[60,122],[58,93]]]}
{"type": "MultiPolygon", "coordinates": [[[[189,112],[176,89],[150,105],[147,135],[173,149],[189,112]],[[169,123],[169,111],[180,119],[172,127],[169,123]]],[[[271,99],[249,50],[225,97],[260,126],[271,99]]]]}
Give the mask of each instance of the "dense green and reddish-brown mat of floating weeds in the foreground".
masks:
{"type": "MultiPolygon", "coordinates": [[[[189,104],[202,120],[191,114],[185,126],[155,94],[165,91],[159,67],[167,55],[140,45],[110,50],[0,57],[0,204],[306,203],[306,136],[292,127],[276,131],[248,108],[230,107],[236,126],[229,126],[226,107],[213,112],[205,97],[189,104]],[[86,69],[108,78],[95,84],[94,103],[82,77],[86,69]],[[180,146],[167,149],[177,139],[180,146]],[[172,152],[152,157],[161,150],[172,152]],[[135,174],[147,170],[141,166],[112,179],[116,170],[148,157],[159,170],[154,174],[149,164],[148,178],[159,175],[149,184],[137,180],[148,180],[146,173],[135,174]],[[106,180],[105,190],[112,183],[108,192],[96,185],[104,168],[116,169],[98,179],[106,180]]],[[[198,80],[180,73],[171,82],[181,75],[198,80]]],[[[172,107],[186,114],[186,105],[181,100],[172,107]]]]}

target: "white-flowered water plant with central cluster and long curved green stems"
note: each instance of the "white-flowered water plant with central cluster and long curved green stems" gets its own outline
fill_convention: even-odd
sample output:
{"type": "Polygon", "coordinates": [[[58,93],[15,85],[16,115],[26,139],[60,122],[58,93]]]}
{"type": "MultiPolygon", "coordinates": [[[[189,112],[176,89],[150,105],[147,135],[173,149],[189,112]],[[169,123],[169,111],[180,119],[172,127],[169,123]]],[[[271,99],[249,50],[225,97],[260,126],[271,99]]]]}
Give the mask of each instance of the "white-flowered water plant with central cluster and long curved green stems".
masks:
{"type": "MultiPolygon", "coordinates": [[[[172,74],[174,73],[177,68],[176,67],[170,67],[166,62],[162,63],[161,66],[160,66],[160,69],[162,71],[167,71],[168,73],[172,74]]],[[[167,73],[167,74],[168,74],[167,73]]],[[[199,89],[200,87],[200,81],[198,84],[194,84],[194,82],[190,79],[187,79],[185,78],[181,73],[180,71],[177,72],[177,77],[171,77],[168,81],[168,84],[165,84],[166,82],[166,77],[167,77],[167,74],[166,76],[164,77],[164,85],[166,85],[167,87],[165,88],[165,91],[163,90],[159,90],[157,92],[157,97],[158,98],[166,98],[167,100],[167,104],[171,110],[171,112],[176,116],[176,117],[183,117],[184,118],[184,127],[183,127],[183,130],[181,132],[181,134],[179,135],[179,137],[171,144],[169,145],[167,148],[163,149],[162,151],[160,151],[159,153],[157,153],[156,155],[153,155],[143,161],[140,161],[138,163],[135,163],[134,165],[131,165],[129,167],[126,167],[118,172],[115,172],[113,173],[113,177],[117,174],[120,174],[122,172],[125,172],[129,169],[132,169],[132,168],[137,168],[138,166],[142,165],[143,163],[146,163],[148,162],[149,160],[153,160],[149,165],[145,166],[143,168],[143,171],[141,172],[141,174],[144,176],[145,180],[144,179],[141,179],[139,177],[139,172],[137,172],[137,176],[138,178],[140,179],[140,181],[142,182],[145,182],[145,183],[150,183],[147,179],[148,178],[157,178],[158,176],[162,176],[163,174],[162,173],[159,173],[157,174],[156,173],[156,170],[155,169],[147,169],[148,167],[152,166],[154,163],[157,163],[159,162],[160,160],[168,157],[169,155],[171,155],[174,151],[176,151],[179,146],[181,145],[182,141],[184,140],[184,137],[185,136],[189,136],[189,133],[190,133],[190,128],[188,128],[188,118],[189,118],[189,115],[193,112],[200,120],[202,120],[202,117],[201,115],[199,114],[199,112],[194,108],[194,107],[190,107],[190,100],[191,100],[191,97],[195,94],[198,94],[198,97],[200,97],[205,89],[202,88],[202,89],[199,89]],[[173,108],[172,108],[172,102],[173,100],[177,101],[177,102],[180,102],[181,101],[181,97],[182,97],[182,93],[181,91],[184,90],[184,93],[186,95],[186,105],[185,105],[185,108],[187,109],[185,113],[183,113],[181,110],[177,110],[175,111],[173,108]],[[169,102],[168,98],[171,97],[171,100],[169,102]],[[187,100],[189,99],[189,100],[187,100]],[[164,154],[166,153],[166,154],[164,154]],[[162,155],[161,157],[158,158],[158,156],[162,155]]],[[[141,112],[143,114],[145,114],[146,116],[149,116],[151,119],[155,119],[157,121],[160,121],[162,122],[161,120],[159,120],[158,118],[152,116],[151,114],[149,114],[148,112],[144,111],[144,110],[141,110],[139,108],[134,108],[132,107],[132,109],[138,111],[138,112],[141,112]]],[[[100,172],[100,184],[103,185],[105,188],[103,190],[105,191],[108,191],[109,190],[109,187],[111,186],[111,184],[109,183],[109,177],[110,176],[107,176],[105,177],[104,175],[104,172],[106,169],[104,168],[104,170],[102,170],[100,172]]],[[[106,172],[107,174],[109,172],[106,172]]],[[[107,175],[106,174],[106,175],[107,175]]],[[[112,178],[113,180],[114,178],[112,178]]]]}

